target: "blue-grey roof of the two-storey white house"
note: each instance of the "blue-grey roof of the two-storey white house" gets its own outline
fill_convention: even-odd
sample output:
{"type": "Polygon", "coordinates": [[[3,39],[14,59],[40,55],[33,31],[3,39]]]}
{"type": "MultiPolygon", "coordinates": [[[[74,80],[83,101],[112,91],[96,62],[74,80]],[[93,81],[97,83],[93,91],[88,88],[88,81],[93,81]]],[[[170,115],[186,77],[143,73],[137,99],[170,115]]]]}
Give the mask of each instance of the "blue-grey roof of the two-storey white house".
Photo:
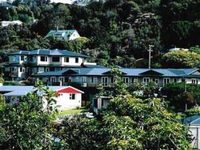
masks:
{"type": "Polygon", "coordinates": [[[83,57],[86,58],[88,56],[75,53],[68,50],[59,50],[59,49],[37,49],[32,51],[18,51],[15,53],[11,53],[9,55],[45,55],[45,56],[69,56],[69,57],[83,57]]]}

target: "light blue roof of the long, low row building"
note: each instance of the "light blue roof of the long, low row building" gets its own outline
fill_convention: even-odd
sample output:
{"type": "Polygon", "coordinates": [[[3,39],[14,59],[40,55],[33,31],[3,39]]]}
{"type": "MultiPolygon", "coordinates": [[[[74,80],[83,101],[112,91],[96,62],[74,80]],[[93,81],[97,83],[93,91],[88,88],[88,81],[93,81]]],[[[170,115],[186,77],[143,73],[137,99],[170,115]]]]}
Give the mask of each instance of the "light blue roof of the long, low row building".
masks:
{"type": "MultiPolygon", "coordinates": [[[[51,71],[51,72],[43,72],[38,73],[38,76],[62,76],[64,73],[66,73],[69,70],[75,71],[76,75],[82,75],[82,76],[99,76],[103,75],[109,71],[111,71],[110,68],[68,68],[61,71],[51,71]]],[[[197,71],[198,69],[146,69],[146,68],[120,68],[121,72],[124,73],[125,76],[141,76],[142,73],[148,72],[148,71],[154,71],[159,73],[161,76],[165,77],[184,77],[187,75],[190,75],[192,72],[197,71]]]]}

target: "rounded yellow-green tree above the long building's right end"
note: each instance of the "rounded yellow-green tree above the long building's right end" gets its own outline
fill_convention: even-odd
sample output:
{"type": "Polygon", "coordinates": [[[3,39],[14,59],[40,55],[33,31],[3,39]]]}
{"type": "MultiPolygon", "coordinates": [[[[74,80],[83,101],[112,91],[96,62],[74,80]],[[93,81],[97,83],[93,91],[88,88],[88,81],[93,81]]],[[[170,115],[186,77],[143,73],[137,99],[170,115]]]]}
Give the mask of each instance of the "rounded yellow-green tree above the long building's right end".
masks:
{"type": "Polygon", "coordinates": [[[198,67],[200,55],[190,51],[172,51],[162,57],[162,66],[169,68],[198,67]]]}

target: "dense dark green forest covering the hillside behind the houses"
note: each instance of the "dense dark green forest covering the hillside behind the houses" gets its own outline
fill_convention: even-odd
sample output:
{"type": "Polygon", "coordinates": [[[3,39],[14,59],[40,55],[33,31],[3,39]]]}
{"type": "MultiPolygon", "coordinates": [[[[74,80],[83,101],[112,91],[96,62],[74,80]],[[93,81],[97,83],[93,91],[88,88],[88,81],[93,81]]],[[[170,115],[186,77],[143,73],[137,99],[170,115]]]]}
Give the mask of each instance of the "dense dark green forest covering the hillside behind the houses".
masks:
{"type": "MultiPolygon", "coordinates": [[[[199,7],[199,0],[107,0],[85,7],[17,0],[12,7],[0,8],[0,20],[21,20],[23,26],[1,27],[0,49],[68,49],[85,53],[102,65],[146,67],[147,50],[153,45],[153,66],[171,67],[176,61],[173,54],[162,56],[169,48],[200,51],[199,7]],[[68,42],[44,38],[56,28],[76,29],[87,38],[68,42]]],[[[196,59],[188,53],[183,55],[196,59]]],[[[176,56],[184,59],[181,54],[176,56]]],[[[184,63],[175,67],[199,64],[184,63]]]]}

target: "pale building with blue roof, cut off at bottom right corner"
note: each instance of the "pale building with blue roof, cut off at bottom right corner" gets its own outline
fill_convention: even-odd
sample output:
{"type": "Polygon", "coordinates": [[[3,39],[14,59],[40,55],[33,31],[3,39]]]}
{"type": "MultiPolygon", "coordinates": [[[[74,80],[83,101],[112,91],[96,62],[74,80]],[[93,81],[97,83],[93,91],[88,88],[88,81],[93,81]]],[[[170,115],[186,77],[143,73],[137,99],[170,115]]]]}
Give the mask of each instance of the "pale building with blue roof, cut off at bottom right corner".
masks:
{"type": "Polygon", "coordinates": [[[189,134],[192,136],[192,147],[200,149],[200,115],[187,117],[183,123],[189,127],[189,134]]]}

